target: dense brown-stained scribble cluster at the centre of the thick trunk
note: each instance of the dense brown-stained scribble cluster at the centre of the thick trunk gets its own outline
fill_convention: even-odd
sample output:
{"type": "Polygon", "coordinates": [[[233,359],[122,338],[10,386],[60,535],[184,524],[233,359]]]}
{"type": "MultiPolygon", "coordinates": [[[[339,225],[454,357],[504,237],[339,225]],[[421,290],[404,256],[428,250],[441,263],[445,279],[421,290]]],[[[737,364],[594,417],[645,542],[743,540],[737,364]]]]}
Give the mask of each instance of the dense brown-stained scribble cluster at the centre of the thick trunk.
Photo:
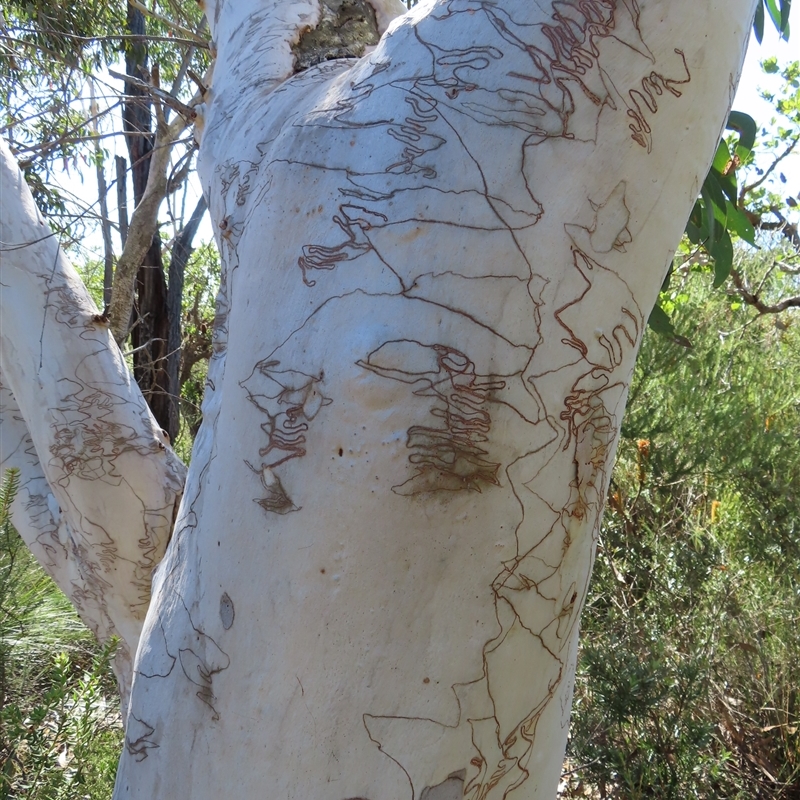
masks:
{"type": "Polygon", "coordinates": [[[414,384],[414,394],[434,399],[436,427],[412,425],[406,445],[414,475],[392,491],[400,495],[464,489],[480,492],[497,485],[500,463],[487,449],[492,420],[489,395],[505,383],[477,375],[464,353],[444,345],[400,339],[373,350],[360,366],[382,377],[414,384]]]}

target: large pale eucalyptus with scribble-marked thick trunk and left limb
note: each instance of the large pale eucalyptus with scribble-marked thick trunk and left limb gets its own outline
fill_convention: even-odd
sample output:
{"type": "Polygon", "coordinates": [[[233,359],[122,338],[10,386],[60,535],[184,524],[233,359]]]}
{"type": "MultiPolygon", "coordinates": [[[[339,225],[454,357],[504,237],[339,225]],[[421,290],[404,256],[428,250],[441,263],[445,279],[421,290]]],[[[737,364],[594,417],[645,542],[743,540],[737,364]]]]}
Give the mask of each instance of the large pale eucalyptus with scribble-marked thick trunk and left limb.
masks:
{"type": "Polygon", "coordinates": [[[223,274],[179,506],[4,203],[18,513],[138,642],[116,798],[554,796],[636,351],[757,5],[209,2],[223,274]]]}

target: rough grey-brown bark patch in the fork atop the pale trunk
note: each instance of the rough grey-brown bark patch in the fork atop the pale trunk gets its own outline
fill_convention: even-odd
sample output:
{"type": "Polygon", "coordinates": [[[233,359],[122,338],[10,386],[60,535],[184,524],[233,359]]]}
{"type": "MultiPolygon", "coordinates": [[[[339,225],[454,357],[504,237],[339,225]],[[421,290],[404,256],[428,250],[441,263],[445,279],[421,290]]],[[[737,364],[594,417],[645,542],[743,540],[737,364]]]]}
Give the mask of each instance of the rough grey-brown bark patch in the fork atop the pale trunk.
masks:
{"type": "Polygon", "coordinates": [[[364,48],[380,39],[375,11],[366,0],[321,0],[320,6],[317,27],[292,46],[295,73],[335,58],[361,58],[364,48]]]}

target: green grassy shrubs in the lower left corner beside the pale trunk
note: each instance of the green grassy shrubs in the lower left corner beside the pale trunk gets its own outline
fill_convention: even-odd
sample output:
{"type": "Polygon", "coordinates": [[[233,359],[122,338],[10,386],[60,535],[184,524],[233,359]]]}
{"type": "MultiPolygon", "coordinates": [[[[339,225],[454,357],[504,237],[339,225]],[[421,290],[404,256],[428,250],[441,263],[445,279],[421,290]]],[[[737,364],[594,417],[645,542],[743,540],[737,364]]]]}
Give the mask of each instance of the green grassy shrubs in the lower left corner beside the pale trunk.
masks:
{"type": "Polygon", "coordinates": [[[103,800],[122,740],[114,643],[96,645],[14,530],[18,482],[0,489],[0,797],[103,800]]]}

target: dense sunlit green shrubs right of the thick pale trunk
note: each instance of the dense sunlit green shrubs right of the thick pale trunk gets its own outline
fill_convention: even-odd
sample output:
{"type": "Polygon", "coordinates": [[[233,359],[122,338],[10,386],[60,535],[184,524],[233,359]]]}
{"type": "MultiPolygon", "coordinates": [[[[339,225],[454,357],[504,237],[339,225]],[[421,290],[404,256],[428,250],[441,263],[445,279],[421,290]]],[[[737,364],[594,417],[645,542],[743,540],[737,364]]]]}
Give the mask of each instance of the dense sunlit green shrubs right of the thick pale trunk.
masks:
{"type": "MultiPolygon", "coordinates": [[[[782,255],[782,254],[777,254],[782,255]]],[[[796,292],[775,256],[739,265],[796,292]]],[[[800,329],[679,273],[648,334],[582,618],[566,797],[800,796],[800,329]]]]}

